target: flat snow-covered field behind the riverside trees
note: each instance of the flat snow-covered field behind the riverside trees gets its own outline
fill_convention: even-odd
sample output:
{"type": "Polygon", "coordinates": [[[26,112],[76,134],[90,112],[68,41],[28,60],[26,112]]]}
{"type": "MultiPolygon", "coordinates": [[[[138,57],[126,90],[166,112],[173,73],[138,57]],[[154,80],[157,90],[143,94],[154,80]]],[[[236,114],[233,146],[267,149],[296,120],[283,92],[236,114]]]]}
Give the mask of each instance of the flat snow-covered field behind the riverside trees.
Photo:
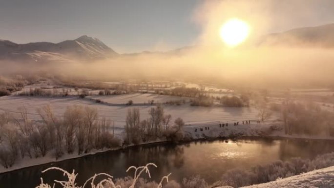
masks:
{"type": "MultiPolygon", "coordinates": [[[[124,96],[124,95],[123,95],[124,96]]],[[[118,96],[117,96],[118,97],[118,96]]],[[[121,96],[119,96],[120,98],[121,96]]],[[[169,96],[162,96],[167,97],[169,96]]],[[[37,109],[49,104],[56,116],[62,116],[67,106],[70,105],[89,105],[98,110],[100,117],[115,121],[115,125],[124,126],[125,116],[129,108],[138,107],[141,113],[141,119],[148,117],[150,105],[127,106],[127,105],[105,105],[98,104],[93,101],[80,99],[78,97],[25,97],[25,96],[5,96],[0,97],[0,111],[8,111],[14,114],[19,112],[18,108],[24,106],[29,118],[40,119],[37,109]]],[[[256,119],[257,110],[254,108],[238,108],[238,107],[201,107],[190,106],[188,104],[181,106],[164,105],[165,114],[171,114],[172,120],[181,117],[186,124],[205,123],[205,122],[229,122],[256,119]]]]}

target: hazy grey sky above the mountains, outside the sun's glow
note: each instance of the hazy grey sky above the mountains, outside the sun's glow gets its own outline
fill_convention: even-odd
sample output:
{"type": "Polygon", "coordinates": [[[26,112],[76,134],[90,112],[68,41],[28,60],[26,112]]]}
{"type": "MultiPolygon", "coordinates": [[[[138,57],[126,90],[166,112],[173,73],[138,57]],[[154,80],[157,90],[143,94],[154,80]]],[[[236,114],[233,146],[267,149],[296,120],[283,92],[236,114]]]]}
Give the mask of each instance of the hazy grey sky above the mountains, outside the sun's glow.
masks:
{"type": "MultiPolygon", "coordinates": [[[[121,53],[173,49],[201,34],[194,15],[204,1],[0,0],[0,39],[61,42],[88,35],[121,53]]],[[[268,32],[334,22],[334,0],[273,0],[268,8],[281,17],[292,15],[268,32]],[[307,8],[298,12],[305,6],[312,14],[307,8]]]]}

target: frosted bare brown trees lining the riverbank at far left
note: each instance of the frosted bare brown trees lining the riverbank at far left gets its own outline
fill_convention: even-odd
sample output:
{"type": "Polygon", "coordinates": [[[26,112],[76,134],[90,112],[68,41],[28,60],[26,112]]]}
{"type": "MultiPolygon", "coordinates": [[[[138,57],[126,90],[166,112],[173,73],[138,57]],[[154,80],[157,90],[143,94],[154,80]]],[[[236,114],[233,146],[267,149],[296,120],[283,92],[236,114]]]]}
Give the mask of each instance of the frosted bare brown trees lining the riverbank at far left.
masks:
{"type": "Polygon", "coordinates": [[[89,106],[68,106],[58,118],[50,106],[38,109],[40,121],[28,118],[26,108],[20,108],[20,118],[10,113],[0,114],[0,163],[11,167],[19,158],[44,157],[48,152],[58,159],[64,153],[78,155],[92,149],[121,145],[111,133],[110,122],[98,120],[97,109],[89,106]]]}

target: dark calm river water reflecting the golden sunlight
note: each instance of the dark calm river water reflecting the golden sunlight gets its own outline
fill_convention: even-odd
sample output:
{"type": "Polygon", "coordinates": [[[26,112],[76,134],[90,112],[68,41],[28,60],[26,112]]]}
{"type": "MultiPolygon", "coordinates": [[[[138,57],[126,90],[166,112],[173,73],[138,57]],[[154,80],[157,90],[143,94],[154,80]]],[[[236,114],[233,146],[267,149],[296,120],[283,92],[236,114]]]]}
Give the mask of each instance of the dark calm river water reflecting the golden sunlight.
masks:
{"type": "Polygon", "coordinates": [[[40,177],[48,183],[65,180],[63,173],[59,171],[41,173],[48,167],[61,167],[69,172],[75,169],[75,172],[79,173],[78,185],[82,186],[84,181],[95,173],[105,172],[114,178],[132,176],[133,171],[125,172],[128,167],[143,166],[150,162],[158,166],[150,168],[152,180],[160,181],[162,176],[171,172],[170,179],[178,182],[184,177],[199,174],[212,183],[229,169],[250,168],[292,157],[314,158],[317,154],[331,151],[334,151],[334,141],[288,139],[241,139],[229,140],[228,143],[220,140],[182,145],[135,146],[2,173],[0,188],[35,188],[41,181],[40,177]]]}

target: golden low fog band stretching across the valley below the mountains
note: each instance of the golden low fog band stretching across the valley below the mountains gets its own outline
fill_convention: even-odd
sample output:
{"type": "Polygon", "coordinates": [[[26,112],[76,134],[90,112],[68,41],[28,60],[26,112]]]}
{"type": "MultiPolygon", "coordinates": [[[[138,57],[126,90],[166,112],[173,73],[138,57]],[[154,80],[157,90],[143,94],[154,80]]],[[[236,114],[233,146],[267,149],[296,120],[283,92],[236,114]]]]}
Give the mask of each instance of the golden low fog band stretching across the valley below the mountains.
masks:
{"type": "Polygon", "coordinates": [[[194,47],[182,54],[141,54],[92,62],[0,62],[0,74],[89,80],[187,80],[249,86],[332,86],[334,53],[326,48],[194,47]]]}

